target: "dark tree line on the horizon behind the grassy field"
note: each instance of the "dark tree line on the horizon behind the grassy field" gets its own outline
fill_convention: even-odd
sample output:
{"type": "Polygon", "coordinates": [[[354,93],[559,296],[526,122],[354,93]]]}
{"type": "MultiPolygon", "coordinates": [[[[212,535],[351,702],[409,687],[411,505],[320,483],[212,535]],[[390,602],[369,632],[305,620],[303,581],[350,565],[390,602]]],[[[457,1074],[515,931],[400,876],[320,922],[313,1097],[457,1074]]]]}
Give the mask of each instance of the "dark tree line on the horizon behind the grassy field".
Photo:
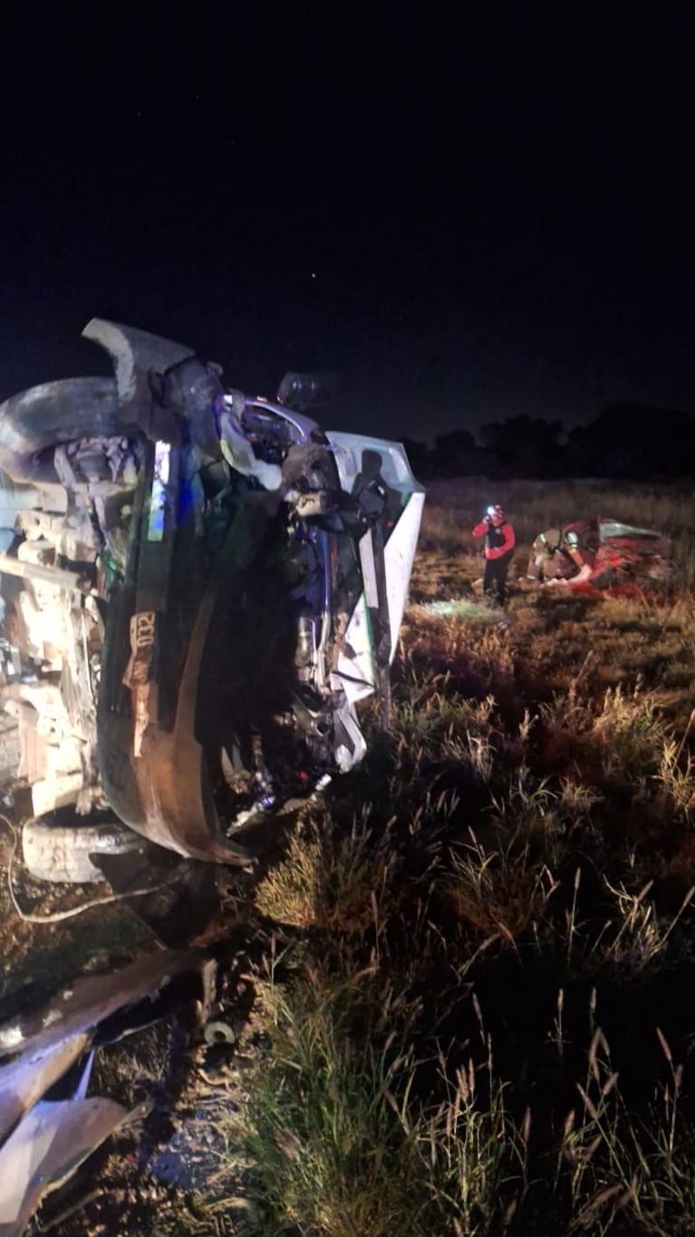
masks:
{"type": "Polygon", "coordinates": [[[673,408],[616,403],[587,426],[510,417],[479,432],[439,434],[434,445],[404,439],[416,475],[491,477],[695,476],[695,417],[673,408]]]}

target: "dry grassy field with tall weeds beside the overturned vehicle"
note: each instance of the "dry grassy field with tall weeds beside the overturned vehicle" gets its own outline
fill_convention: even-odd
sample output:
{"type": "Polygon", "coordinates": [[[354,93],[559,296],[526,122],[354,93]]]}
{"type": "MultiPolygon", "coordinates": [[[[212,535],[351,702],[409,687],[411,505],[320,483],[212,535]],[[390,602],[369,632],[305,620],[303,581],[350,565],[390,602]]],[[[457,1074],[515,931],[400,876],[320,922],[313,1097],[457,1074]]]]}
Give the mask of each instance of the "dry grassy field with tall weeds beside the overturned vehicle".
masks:
{"type": "MultiPolygon", "coordinates": [[[[141,1168],[122,1232],[695,1231],[694,528],[673,485],[432,487],[392,725],[244,891],[267,948],[214,1199],[146,1223],[141,1168]],[[470,537],[492,501],[503,615],[470,537]],[[539,531],[594,515],[673,534],[672,585],[519,579],[539,531]]],[[[111,1231],[85,1216],[54,1237],[111,1231]]]]}

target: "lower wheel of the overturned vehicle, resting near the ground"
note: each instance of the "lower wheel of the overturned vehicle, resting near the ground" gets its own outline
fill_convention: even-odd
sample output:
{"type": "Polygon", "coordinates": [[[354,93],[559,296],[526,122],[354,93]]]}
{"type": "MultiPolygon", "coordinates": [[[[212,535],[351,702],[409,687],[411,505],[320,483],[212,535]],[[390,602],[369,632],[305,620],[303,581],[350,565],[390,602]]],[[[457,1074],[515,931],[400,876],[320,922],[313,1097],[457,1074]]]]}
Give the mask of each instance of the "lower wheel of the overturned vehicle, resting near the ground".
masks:
{"type": "Polygon", "coordinates": [[[22,829],[23,861],[40,881],[84,884],[104,881],[92,861],[99,855],[132,855],[146,842],[132,829],[111,820],[99,825],[49,825],[28,820],[22,829]]]}

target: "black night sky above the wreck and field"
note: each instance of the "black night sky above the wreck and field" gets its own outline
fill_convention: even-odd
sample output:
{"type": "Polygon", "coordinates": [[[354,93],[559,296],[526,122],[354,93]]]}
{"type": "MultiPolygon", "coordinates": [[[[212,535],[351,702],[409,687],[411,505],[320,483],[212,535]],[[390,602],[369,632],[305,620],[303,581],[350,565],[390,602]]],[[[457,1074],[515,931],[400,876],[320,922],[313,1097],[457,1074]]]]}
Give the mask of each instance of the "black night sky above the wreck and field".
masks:
{"type": "Polygon", "coordinates": [[[695,411],[694,11],[5,2],[0,397],[99,315],[396,438],[695,411]]]}

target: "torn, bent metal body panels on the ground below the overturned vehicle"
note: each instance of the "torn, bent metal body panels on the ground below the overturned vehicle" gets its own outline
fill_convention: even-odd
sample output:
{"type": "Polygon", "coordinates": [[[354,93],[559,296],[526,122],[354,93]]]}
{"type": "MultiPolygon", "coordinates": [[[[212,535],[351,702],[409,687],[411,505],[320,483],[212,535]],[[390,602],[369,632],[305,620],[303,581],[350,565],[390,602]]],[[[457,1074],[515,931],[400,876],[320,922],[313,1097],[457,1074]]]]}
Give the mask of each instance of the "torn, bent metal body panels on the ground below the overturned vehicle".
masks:
{"type": "Polygon", "coordinates": [[[0,1025],[0,1237],[20,1237],[41,1200],[142,1106],[87,1095],[95,1049],[192,1008],[208,1022],[216,964],[203,950],[162,950],[79,978],[42,1009],[0,1025]],[[79,1065],[79,1063],[82,1063],[79,1065]],[[48,1097],[79,1065],[69,1097],[48,1097]]]}

